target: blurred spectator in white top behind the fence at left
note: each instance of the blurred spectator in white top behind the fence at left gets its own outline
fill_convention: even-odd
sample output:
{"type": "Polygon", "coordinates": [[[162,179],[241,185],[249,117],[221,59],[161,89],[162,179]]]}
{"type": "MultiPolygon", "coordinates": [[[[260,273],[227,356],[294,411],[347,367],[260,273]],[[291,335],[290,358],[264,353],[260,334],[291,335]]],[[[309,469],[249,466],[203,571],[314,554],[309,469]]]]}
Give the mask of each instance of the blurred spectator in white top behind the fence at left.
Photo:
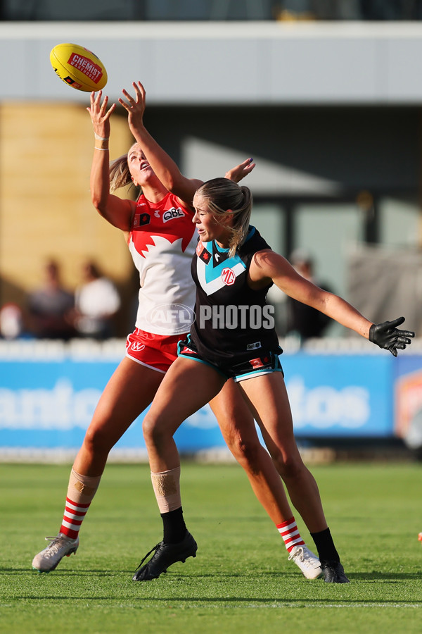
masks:
{"type": "Polygon", "coordinates": [[[87,261],[83,282],[75,292],[75,328],[82,337],[108,339],[115,336],[114,317],[120,309],[120,295],[113,282],[87,261]]]}

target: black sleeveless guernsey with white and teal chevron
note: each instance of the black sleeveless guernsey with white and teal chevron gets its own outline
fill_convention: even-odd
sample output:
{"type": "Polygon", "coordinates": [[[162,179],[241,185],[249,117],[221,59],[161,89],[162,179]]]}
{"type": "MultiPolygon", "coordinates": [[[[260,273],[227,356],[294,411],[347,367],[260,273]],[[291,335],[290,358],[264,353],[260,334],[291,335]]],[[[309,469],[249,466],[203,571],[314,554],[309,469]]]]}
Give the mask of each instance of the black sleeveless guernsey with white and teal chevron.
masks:
{"type": "Polygon", "coordinates": [[[274,307],[266,302],[272,282],[260,290],[248,285],[252,256],[269,248],[255,227],[249,228],[232,257],[215,240],[198,242],[191,264],[196,319],[189,341],[205,361],[227,369],[282,352],[274,330],[274,307]]]}

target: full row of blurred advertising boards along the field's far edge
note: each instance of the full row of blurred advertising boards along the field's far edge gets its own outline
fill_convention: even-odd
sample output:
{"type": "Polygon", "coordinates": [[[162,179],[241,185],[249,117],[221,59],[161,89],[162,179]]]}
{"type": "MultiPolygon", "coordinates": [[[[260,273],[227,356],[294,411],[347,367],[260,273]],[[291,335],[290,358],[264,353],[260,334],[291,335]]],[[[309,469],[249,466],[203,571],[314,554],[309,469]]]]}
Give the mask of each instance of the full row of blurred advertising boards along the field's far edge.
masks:
{"type": "MultiPolygon", "coordinates": [[[[407,424],[413,411],[408,395],[412,394],[414,409],[422,407],[421,357],[413,359],[393,359],[388,354],[283,354],[298,439],[401,433],[400,425],[407,424]],[[399,409],[394,423],[396,368],[399,409]]],[[[117,363],[118,359],[68,355],[0,359],[0,449],[78,449],[117,363]]],[[[145,452],[142,418],[116,449],[145,452]]],[[[185,453],[225,446],[209,406],[188,418],[175,439],[185,453]]]]}

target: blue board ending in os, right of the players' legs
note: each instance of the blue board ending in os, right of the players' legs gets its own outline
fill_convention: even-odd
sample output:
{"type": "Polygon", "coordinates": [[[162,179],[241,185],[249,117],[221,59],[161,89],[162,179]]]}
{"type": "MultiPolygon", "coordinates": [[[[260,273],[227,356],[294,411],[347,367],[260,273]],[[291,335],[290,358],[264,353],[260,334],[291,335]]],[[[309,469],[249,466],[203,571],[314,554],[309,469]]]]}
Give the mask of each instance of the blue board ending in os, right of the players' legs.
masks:
{"type": "Polygon", "coordinates": [[[296,437],[392,435],[389,354],[282,355],[296,437]]]}

